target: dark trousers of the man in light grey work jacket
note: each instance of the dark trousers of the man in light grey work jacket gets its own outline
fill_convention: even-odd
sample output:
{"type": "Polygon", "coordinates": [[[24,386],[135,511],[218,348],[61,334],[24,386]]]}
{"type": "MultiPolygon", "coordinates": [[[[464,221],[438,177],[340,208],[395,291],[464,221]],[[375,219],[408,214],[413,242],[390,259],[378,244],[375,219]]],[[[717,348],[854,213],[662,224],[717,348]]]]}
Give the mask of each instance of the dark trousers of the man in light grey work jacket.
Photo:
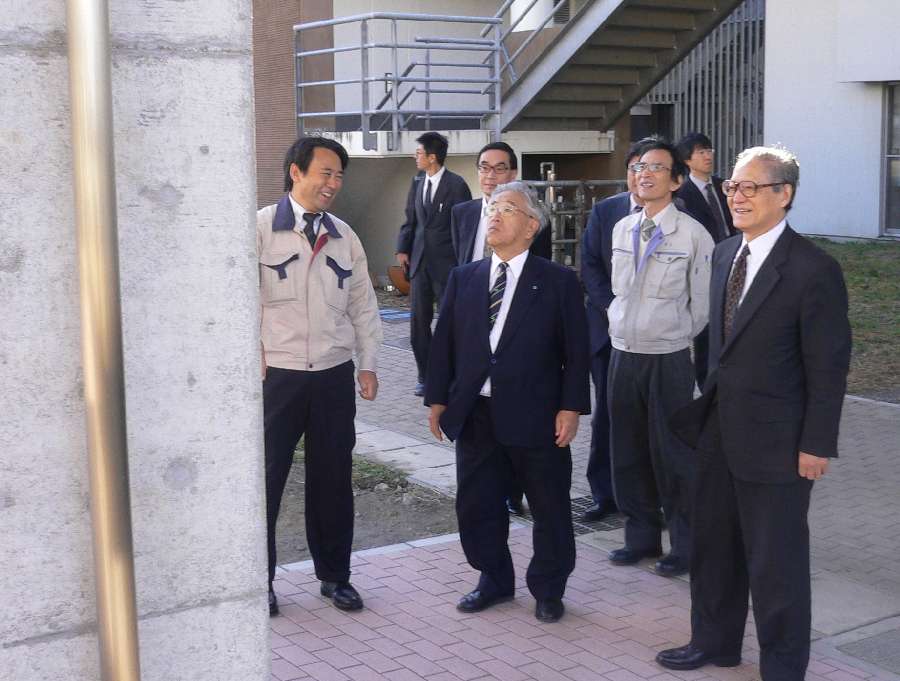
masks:
{"type": "Polygon", "coordinates": [[[689,556],[696,456],[671,431],[669,417],[693,395],[687,348],[663,355],[613,349],[608,385],[613,488],[630,549],[660,546],[662,506],[670,555],[689,556]]]}

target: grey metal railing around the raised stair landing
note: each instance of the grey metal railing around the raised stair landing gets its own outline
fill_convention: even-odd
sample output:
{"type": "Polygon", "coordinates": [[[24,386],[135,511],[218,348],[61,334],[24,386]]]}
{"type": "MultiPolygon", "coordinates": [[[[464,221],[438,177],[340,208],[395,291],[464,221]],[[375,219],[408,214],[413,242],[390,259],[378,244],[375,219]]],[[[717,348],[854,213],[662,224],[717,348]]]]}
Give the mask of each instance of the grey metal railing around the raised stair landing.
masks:
{"type": "MultiPolygon", "coordinates": [[[[480,128],[490,128],[494,139],[500,140],[500,51],[501,33],[500,23],[502,19],[497,17],[481,16],[450,16],[443,14],[401,14],[392,12],[370,12],[367,14],[355,14],[353,16],[329,19],[321,22],[302,23],[293,27],[295,47],[295,68],[297,83],[297,120],[298,133],[302,134],[303,121],[307,118],[320,118],[323,116],[347,116],[358,115],[361,119],[360,130],[363,132],[363,144],[366,150],[375,148],[375,135],[373,130],[381,130],[391,122],[389,135],[389,150],[395,150],[398,144],[398,133],[410,129],[410,124],[417,120],[426,122],[426,129],[430,129],[431,122],[435,118],[450,120],[470,120],[478,123],[480,128]],[[385,20],[391,23],[390,41],[370,40],[370,24],[385,20]],[[468,23],[487,24],[486,32],[482,32],[482,38],[454,38],[439,36],[416,36],[412,42],[401,42],[397,37],[398,22],[425,22],[425,23],[468,23]],[[334,27],[348,23],[359,23],[359,41],[353,45],[332,47],[323,50],[303,50],[302,33],[314,29],[334,27]],[[483,36],[491,33],[490,39],[483,36]],[[390,73],[383,76],[373,73],[373,50],[390,50],[390,73]],[[399,58],[399,50],[415,50],[422,52],[423,59],[412,59],[403,68],[399,58]],[[327,80],[307,81],[302,79],[302,59],[308,59],[318,55],[338,54],[342,52],[358,51],[360,53],[360,76],[348,78],[330,78],[327,80]],[[434,51],[449,51],[454,55],[464,52],[483,52],[481,61],[464,60],[433,60],[434,51]],[[454,75],[437,74],[433,69],[453,69],[454,75]],[[471,77],[462,77],[458,74],[461,69],[476,69],[471,77]],[[483,75],[480,72],[486,71],[483,75]],[[319,86],[343,86],[358,83],[361,86],[361,106],[358,110],[343,110],[331,112],[308,112],[303,107],[303,91],[309,87],[319,86]],[[385,83],[389,89],[382,100],[372,105],[371,86],[373,83],[385,83]],[[450,87],[450,85],[467,85],[469,87],[450,87]],[[478,87],[473,87],[478,86],[478,87]],[[408,104],[413,95],[424,95],[425,104],[422,108],[413,108],[408,104]],[[432,107],[432,95],[478,95],[486,98],[482,108],[460,107],[435,109],[432,107]],[[379,123],[380,119],[380,123],[379,123]]],[[[338,108],[338,107],[336,107],[338,108]]]]}

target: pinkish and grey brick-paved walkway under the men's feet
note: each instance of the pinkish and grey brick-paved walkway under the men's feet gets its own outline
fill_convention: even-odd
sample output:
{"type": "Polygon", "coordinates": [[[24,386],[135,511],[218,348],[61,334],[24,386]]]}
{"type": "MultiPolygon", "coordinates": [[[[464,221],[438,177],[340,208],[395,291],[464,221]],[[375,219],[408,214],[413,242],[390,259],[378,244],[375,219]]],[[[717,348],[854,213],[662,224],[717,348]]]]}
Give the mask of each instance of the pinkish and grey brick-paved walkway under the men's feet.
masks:
{"type": "MultiPolygon", "coordinates": [[[[411,394],[408,324],[384,327],[381,392],[375,403],[357,405],[356,456],[453,495],[453,449],[431,437],[428,412],[411,394]]],[[[573,497],[590,494],[589,444],[590,417],[572,446],[573,497]]],[[[900,681],[900,406],[849,397],[841,450],[816,483],[810,510],[815,642],[806,678],[900,681]]],[[[741,667],[667,672],[653,662],[658,650],[689,640],[688,583],[657,577],[652,561],[612,566],[608,550],[622,545],[621,530],[577,538],[563,622],[537,622],[524,586],[530,528],[512,528],[517,599],[476,615],[454,608],[477,580],[455,535],[357,553],[361,613],[341,613],[322,599],[308,561],[279,568],[276,591],[285,605],[284,616],[271,620],[273,678],[760,678],[752,613],[741,667]]]]}

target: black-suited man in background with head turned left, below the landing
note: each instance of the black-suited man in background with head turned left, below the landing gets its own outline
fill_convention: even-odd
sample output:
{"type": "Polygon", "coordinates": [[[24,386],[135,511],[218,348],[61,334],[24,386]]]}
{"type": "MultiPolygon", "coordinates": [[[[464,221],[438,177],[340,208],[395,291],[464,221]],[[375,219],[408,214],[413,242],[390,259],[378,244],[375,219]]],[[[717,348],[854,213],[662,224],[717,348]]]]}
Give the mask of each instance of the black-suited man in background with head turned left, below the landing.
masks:
{"type": "Polygon", "coordinates": [[[465,180],[444,168],[447,139],[426,132],[419,139],[414,158],[419,172],[412,178],[406,199],[406,222],[397,237],[397,262],[409,268],[410,343],[419,368],[414,395],[425,395],[425,370],[431,344],[434,304],[444,298],[456,254],[450,234],[450,212],[455,204],[472,199],[465,180]]]}

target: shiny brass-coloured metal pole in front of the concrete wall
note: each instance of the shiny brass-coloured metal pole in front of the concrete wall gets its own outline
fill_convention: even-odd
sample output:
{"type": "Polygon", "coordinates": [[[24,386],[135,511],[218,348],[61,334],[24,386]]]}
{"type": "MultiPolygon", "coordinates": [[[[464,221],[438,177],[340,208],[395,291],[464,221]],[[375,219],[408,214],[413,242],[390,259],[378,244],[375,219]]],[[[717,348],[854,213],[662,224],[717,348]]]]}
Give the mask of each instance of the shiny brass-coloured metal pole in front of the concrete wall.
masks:
{"type": "Polygon", "coordinates": [[[67,0],[72,155],[103,681],[139,681],[107,0],[67,0]]]}

